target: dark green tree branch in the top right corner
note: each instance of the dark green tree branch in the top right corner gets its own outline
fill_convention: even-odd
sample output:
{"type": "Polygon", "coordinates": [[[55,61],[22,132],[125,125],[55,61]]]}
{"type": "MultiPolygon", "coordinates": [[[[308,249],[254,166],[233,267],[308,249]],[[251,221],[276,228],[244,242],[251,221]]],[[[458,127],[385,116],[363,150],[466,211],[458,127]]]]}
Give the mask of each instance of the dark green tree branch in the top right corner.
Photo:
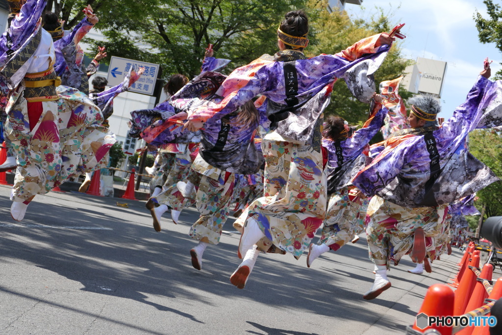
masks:
{"type": "MultiPolygon", "coordinates": [[[[484,0],[483,3],[486,5],[488,18],[483,18],[477,11],[474,14],[479,42],[495,43],[498,51],[502,52],[502,9],[492,0],[484,0]]],[[[498,70],[495,78],[502,78],[502,70],[498,70]]]]}

